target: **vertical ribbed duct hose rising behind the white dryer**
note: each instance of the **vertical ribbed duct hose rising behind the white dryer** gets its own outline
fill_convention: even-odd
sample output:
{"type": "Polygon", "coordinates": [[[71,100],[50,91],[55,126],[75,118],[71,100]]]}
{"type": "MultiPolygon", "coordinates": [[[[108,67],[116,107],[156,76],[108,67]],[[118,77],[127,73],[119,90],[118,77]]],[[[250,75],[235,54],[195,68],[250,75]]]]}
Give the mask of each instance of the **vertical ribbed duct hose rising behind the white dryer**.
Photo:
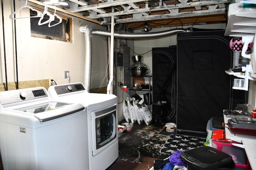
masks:
{"type": "Polygon", "coordinates": [[[88,26],[81,26],[80,32],[84,33],[85,40],[85,63],[84,63],[84,86],[88,93],[90,93],[91,86],[91,67],[92,67],[92,42],[91,34],[88,26]]]}

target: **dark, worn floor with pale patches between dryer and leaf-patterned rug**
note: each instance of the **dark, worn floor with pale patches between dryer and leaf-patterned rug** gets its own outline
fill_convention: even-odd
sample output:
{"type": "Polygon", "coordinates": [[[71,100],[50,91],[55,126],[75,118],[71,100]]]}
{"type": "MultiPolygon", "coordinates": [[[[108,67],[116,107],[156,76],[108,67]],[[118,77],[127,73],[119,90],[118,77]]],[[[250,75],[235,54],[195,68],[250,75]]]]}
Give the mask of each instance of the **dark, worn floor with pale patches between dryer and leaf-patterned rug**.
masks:
{"type": "Polygon", "coordinates": [[[149,170],[154,160],[170,156],[160,150],[173,133],[164,127],[134,124],[132,132],[119,134],[119,157],[108,170],[149,170]]]}

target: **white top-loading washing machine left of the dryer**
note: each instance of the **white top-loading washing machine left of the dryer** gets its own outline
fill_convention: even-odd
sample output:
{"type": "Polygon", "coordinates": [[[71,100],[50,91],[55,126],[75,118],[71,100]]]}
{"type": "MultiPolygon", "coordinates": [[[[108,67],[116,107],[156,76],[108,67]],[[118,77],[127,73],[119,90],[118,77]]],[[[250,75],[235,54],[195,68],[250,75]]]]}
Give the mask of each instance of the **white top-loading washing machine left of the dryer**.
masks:
{"type": "Polygon", "coordinates": [[[4,170],[88,170],[87,113],[44,87],[0,92],[4,170]]]}

